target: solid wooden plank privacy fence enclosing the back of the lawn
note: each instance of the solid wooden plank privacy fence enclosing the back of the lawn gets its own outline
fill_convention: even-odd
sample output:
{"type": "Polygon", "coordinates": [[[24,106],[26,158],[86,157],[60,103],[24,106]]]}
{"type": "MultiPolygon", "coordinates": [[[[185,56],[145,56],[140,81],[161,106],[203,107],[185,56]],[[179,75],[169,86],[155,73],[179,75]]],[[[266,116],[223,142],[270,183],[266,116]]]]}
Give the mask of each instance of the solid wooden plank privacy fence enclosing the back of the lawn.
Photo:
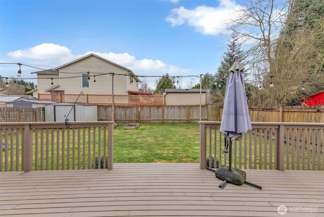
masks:
{"type": "MultiPolygon", "coordinates": [[[[222,108],[201,106],[202,121],[220,121],[222,108]]],[[[324,123],[324,106],[250,108],[251,121],[324,123]]],[[[116,122],[198,122],[200,106],[114,106],[116,122]]],[[[112,106],[98,106],[98,120],[112,120],[112,106]]],[[[45,109],[0,108],[0,122],[45,121],[45,109]]]]}

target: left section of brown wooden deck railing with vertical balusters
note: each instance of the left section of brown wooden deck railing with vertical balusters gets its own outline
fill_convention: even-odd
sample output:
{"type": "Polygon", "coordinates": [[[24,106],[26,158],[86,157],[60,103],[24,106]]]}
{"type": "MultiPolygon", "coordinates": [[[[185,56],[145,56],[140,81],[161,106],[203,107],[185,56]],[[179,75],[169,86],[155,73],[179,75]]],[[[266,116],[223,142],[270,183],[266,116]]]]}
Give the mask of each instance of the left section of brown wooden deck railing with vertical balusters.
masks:
{"type": "Polygon", "coordinates": [[[0,125],[0,171],[113,168],[113,121],[0,125]]]}

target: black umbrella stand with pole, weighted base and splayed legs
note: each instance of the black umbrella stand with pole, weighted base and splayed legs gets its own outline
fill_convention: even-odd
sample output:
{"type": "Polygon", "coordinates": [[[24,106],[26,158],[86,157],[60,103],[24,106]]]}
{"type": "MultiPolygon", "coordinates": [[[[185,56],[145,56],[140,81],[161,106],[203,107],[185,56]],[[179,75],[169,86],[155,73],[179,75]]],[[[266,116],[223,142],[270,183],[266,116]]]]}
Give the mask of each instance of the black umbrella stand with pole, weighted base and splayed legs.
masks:
{"type": "Polygon", "coordinates": [[[209,171],[215,172],[215,175],[218,179],[223,180],[223,182],[218,187],[224,189],[227,183],[234,185],[246,184],[248,186],[261,190],[261,186],[246,181],[247,173],[245,171],[237,168],[232,168],[232,140],[228,137],[228,135],[227,139],[225,138],[225,149],[223,153],[227,152],[229,154],[229,166],[223,165],[216,170],[207,167],[209,171]]]}

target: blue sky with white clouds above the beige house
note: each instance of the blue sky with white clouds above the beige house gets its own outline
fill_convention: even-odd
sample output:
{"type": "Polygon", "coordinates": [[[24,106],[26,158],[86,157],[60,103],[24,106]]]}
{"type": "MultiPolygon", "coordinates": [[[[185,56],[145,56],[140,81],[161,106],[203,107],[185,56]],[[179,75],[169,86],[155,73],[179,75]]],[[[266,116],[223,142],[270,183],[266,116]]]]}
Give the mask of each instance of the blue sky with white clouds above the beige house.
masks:
{"type": "MultiPolygon", "coordinates": [[[[238,4],[232,0],[1,0],[0,63],[49,69],[95,53],[139,76],[214,74],[227,49],[224,23],[238,4]]],[[[0,64],[0,75],[16,77],[18,68],[0,64]]],[[[38,71],[21,69],[21,78],[34,78],[30,72],[38,71]]],[[[181,88],[188,88],[191,78],[183,78],[181,88]]],[[[140,79],[155,88],[158,78],[140,79]]]]}

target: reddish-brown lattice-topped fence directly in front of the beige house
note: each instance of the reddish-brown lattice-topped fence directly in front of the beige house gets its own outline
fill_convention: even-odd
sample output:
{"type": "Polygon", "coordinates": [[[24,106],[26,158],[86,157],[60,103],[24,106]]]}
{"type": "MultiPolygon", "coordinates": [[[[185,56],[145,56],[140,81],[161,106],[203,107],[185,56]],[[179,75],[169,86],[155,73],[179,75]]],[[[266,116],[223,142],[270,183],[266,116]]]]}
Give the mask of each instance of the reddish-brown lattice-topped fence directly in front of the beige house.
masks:
{"type": "Polygon", "coordinates": [[[157,106],[164,105],[164,96],[157,95],[99,95],[99,94],[40,94],[38,100],[63,102],[92,103],[96,105],[135,105],[135,106],[157,106]]]}

